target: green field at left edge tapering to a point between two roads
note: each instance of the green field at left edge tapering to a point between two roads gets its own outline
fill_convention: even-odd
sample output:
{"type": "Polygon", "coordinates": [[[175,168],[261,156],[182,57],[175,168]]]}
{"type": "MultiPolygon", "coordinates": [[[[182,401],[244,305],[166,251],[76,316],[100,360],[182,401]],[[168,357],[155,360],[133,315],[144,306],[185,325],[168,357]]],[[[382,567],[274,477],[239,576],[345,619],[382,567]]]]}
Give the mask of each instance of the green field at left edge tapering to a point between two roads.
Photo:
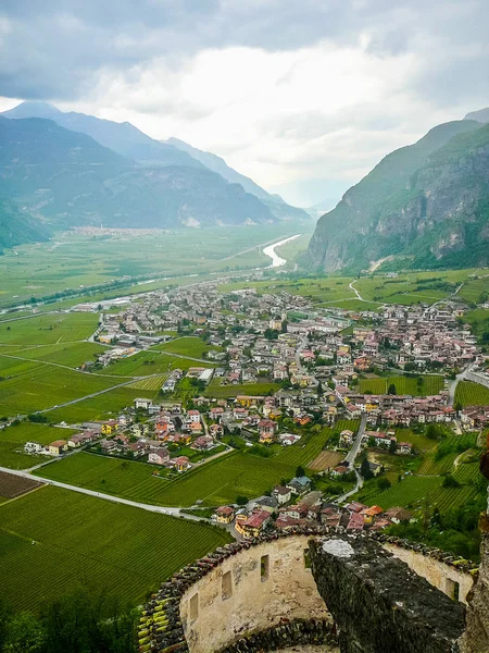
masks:
{"type": "Polygon", "coordinates": [[[1,409],[9,416],[35,412],[99,392],[116,382],[114,379],[40,365],[23,375],[0,381],[1,409]]]}

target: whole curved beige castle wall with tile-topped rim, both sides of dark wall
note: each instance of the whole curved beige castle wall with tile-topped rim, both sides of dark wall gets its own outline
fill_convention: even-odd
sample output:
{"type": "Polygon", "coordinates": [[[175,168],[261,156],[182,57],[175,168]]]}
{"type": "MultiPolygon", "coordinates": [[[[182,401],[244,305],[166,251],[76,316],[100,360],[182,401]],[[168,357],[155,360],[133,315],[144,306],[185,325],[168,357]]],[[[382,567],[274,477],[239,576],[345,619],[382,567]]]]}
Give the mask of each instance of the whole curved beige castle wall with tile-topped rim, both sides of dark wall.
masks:
{"type": "Polygon", "coordinates": [[[321,643],[329,646],[326,650],[337,650],[330,648],[336,641],[335,621],[309,562],[310,542],[319,538],[354,540],[360,546],[372,542],[388,557],[397,558],[397,565],[408,565],[462,603],[466,603],[477,575],[469,560],[384,533],[347,534],[341,528],[298,527],[227,544],[175,574],[145,608],[139,650],[272,651],[277,649],[274,642],[281,641],[279,648],[284,649],[294,643],[293,638],[296,643],[321,643]],[[310,626],[305,628],[305,624],[310,626]]]}

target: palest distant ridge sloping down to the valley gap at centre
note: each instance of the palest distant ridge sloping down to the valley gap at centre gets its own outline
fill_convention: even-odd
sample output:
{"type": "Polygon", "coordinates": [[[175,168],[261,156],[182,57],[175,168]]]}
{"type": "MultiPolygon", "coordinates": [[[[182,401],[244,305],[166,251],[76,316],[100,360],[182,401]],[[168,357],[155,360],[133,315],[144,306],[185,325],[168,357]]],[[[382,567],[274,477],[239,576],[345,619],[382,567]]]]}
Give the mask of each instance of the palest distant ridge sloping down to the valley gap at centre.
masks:
{"type": "Polygon", "coordinates": [[[200,163],[205,165],[205,168],[209,168],[209,170],[212,170],[221,176],[223,176],[230,184],[241,184],[241,186],[247,193],[251,193],[251,195],[254,195],[264,204],[266,204],[276,218],[280,218],[284,220],[310,219],[306,211],[304,211],[303,209],[291,207],[286,201],[284,201],[279,195],[271,195],[264,188],[255,184],[253,180],[250,180],[250,177],[247,177],[243,174],[240,174],[239,172],[230,168],[226,163],[226,161],[221,157],[217,157],[217,155],[197,149],[197,147],[192,147],[188,143],[179,140],[179,138],[172,137],[165,140],[165,143],[186,152],[187,155],[196,159],[196,161],[199,161],[200,163]]]}

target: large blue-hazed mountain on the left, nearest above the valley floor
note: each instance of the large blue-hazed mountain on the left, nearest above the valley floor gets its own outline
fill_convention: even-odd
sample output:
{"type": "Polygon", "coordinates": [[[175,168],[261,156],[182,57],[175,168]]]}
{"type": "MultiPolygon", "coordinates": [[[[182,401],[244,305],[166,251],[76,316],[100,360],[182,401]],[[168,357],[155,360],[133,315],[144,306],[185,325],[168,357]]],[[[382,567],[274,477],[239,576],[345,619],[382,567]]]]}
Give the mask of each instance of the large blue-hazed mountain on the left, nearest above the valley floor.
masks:
{"type": "Polygon", "coordinates": [[[0,116],[0,195],[66,227],[273,222],[256,197],[204,167],[146,165],[51,120],[0,116]]]}

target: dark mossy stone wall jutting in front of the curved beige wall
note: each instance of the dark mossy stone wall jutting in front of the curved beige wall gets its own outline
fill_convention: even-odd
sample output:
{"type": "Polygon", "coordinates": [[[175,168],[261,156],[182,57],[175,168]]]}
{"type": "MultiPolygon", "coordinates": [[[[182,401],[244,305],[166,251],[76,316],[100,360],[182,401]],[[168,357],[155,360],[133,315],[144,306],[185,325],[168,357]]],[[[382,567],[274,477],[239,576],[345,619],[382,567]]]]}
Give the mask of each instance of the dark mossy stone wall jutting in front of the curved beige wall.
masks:
{"type": "Polygon", "coordinates": [[[456,653],[464,606],[378,542],[311,540],[312,572],[339,629],[341,653],[456,653]]]}

